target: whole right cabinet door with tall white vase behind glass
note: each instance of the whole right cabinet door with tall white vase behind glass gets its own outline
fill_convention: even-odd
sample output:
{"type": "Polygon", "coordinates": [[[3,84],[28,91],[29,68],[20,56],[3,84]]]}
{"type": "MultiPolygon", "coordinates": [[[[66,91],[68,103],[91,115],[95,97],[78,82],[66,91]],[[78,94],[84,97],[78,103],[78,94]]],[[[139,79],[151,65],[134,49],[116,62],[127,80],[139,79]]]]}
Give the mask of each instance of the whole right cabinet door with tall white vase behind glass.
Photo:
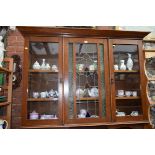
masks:
{"type": "Polygon", "coordinates": [[[142,121],[146,114],[142,42],[114,39],[109,50],[113,121],[142,121]]]}

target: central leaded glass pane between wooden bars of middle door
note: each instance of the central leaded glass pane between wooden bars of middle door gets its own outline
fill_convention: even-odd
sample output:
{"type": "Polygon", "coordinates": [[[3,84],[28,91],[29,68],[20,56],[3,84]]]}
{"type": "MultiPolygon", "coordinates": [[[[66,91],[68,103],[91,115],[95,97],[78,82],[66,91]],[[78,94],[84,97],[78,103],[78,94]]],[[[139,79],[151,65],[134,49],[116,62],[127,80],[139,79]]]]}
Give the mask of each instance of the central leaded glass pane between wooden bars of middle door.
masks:
{"type": "Polygon", "coordinates": [[[76,44],[76,114],[98,117],[98,58],[96,44],[76,44]]]}

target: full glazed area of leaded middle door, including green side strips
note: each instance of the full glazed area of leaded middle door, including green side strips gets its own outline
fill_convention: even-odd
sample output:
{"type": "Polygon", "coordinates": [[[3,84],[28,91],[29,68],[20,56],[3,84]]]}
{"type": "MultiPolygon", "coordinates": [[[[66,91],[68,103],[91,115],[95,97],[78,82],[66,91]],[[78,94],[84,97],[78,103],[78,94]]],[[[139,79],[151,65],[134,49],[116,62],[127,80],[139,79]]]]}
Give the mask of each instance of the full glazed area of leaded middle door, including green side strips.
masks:
{"type": "Polygon", "coordinates": [[[103,45],[99,46],[99,51],[95,43],[69,43],[68,46],[69,118],[98,118],[101,102],[102,116],[105,116],[103,45]],[[102,74],[100,80],[98,73],[102,74]],[[101,101],[99,94],[102,95],[101,101]]]}

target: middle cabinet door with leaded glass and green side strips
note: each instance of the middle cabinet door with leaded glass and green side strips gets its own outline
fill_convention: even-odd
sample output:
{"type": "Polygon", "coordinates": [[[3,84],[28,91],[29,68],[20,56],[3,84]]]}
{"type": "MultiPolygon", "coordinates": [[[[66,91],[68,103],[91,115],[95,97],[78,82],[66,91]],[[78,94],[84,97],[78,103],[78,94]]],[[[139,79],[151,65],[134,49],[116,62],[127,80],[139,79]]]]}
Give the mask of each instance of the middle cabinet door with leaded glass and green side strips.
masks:
{"type": "Polygon", "coordinates": [[[107,41],[64,39],[65,123],[110,120],[107,41]]]}

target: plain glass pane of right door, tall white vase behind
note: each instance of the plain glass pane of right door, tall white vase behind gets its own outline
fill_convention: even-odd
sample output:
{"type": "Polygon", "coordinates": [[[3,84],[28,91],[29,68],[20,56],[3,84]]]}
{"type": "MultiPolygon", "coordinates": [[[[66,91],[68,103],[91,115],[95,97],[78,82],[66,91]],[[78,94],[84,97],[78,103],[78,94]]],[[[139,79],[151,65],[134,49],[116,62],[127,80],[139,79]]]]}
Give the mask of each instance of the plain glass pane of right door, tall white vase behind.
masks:
{"type": "Polygon", "coordinates": [[[142,114],[137,45],[113,45],[116,116],[142,114]]]}

